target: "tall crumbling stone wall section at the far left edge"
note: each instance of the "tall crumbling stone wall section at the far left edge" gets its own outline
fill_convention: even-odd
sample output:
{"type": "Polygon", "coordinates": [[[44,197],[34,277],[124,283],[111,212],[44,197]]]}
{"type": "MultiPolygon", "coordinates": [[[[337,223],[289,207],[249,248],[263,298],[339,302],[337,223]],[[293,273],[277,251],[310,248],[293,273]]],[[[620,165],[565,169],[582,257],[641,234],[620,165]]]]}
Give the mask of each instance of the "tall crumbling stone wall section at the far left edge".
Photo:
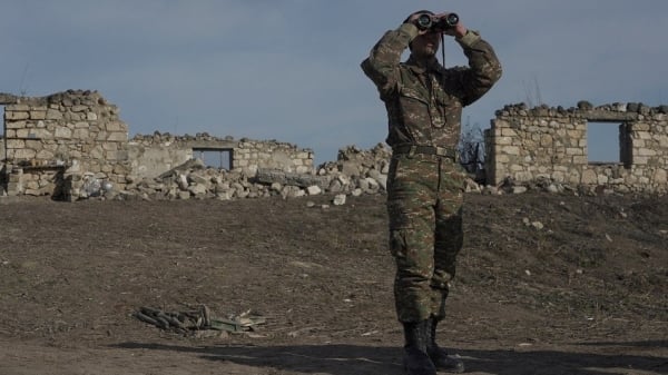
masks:
{"type": "Polygon", "coordinates": [[[0,101],[8,194],[69,197],[92,180],[125,185],[128,127],[97,91],[0,101]]]}

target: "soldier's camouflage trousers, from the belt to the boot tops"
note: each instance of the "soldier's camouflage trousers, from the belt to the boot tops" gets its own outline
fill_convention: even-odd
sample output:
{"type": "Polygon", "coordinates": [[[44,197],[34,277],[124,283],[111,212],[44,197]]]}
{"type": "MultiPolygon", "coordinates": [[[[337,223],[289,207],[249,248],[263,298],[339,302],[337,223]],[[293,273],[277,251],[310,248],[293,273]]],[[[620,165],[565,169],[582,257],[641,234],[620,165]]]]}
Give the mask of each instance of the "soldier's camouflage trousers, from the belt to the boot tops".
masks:
{"type": "Polygon", "coordinates": [[[394,155],[387,179],[390,250],[400,322],[442,319],[463,245],[464,174],[455,161],[394,155]]]}

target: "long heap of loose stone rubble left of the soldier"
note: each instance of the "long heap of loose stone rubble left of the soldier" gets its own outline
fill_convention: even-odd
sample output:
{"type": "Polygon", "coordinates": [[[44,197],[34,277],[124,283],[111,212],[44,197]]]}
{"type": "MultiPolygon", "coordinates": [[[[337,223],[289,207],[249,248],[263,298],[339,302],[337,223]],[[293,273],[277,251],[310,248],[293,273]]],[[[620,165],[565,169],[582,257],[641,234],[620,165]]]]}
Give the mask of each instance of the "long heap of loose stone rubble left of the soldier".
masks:
{"type": "MultiPolygon", "coordinates": [[[[122,190],[95,180],[94,175],[86,176],[89,182],[85,184],[86,189],[80,198],[232,200],[271,196],[297,198],[321,194],[382,194],[386,188],[391,156],[392,150],[382,144],[370,150],[348,146],[338,151],[336,161],[321,165],[314,174],[259,169],[253,176],[237,170],[210,168],[200,159],[191,159],[156,178],[129,178],[122,190]]],[[[338,197],[337,201],[345,199],[338,197]]]]}

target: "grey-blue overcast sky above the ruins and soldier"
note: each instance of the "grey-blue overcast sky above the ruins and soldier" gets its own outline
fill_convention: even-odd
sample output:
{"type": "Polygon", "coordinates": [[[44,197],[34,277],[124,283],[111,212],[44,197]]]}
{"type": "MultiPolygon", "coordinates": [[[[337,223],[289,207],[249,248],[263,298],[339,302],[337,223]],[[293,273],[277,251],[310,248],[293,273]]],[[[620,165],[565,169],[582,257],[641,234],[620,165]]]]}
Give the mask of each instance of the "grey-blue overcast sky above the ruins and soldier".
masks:
{"type": "MultiPolygon", "coordinates": [[[[503,77],[464,110],[489,128],[507,103],[668,103],[665,0],[0,0],[0,92],[97,90],[136,134],[276,139],[315,151],[384,141],[360,62],[412,11],[453,11],[503,77]]],[[[463,65],[445,45],[445,66],[463,65]]],[[[595,138],[595,137],[591,137],[595,138]]],[[[590,152],[616,152],[616,134],[590,152]]],[[[599,141],[600,139],[600,141],[599,141]]],[[[616,155],[602,156],[615,159],[616,155]]],[[[591,158],[591,157],[590,157],[591,158]]]]}

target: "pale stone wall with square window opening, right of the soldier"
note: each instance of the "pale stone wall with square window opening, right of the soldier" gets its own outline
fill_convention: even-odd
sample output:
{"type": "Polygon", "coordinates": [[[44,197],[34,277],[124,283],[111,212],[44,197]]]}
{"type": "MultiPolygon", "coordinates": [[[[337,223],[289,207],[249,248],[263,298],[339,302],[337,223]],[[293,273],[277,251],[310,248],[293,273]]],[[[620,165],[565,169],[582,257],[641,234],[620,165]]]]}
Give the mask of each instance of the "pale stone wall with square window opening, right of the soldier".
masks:
{"type": "Polygon", "coordinates": [[[586,193],[668,191],[668,106],[507,106],[485,132],[488,185],[554,182],[586,193]],[[592,164],[588,122],[619,125],[620,161],[592,164]]]}

